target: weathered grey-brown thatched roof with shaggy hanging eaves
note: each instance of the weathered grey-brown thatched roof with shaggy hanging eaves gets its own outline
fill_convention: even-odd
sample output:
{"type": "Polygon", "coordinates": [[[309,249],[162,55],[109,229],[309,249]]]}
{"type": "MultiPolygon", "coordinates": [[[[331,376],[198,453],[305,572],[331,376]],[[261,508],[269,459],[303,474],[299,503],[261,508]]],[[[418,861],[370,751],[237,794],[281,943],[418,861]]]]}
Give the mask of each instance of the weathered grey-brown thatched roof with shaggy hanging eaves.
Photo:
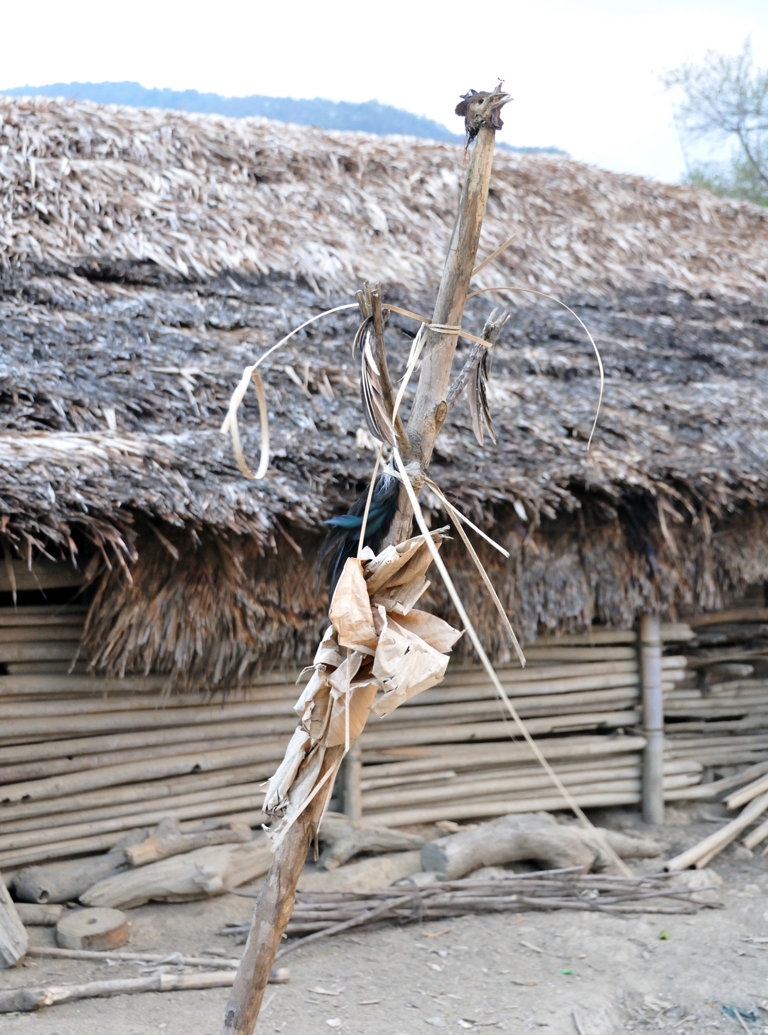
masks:
{"type": "MultiPolygon", "coordinates": [[[[325,610],[306,578],[320,522],[373,457],[354,317],[315,325],[269,368],[265,481],[241,477],[218,427],[242,367],[363,277],[431,312],[462,149],[45,99],[0,100],[0,117],[4,534],[25,554],[109,540],[130,563],[139,541],[133,588],[114,576],[94,612],[94,643],[114,641],[104,662],[191,672],[205,655],[211,673],[206,644],[222,637],[247,644],[221,648],[219,674],[305,652],[325,610]],[[303,568],[284,562],[298,562],[290,539],[303,568]],[[196,646],[174,640],[179,565],[209,587],[196,646]],[[150,627],[148,599],[171,632],[150,627]]],[[[573,318],[525,295],[470,303],[475,332],[492,304],[514,310],[492,375],[499,444],[477,446],[460,403],[432,473],[514,546],[497,576],[524,630],[623,622],[652,599],[715,605],[768,576],[760,535],[733,545],[744,508],[754,523],[768,505],[768,210],[499,152],[482,250],[513,233],[478,286],[556,294],[607,376],[587,455],[597,372],[573,318]]],[[[414,325],[391,327],[404,355],[414,325]]],[[[244,416],[255,456],[250,405],[244,416]]]]}

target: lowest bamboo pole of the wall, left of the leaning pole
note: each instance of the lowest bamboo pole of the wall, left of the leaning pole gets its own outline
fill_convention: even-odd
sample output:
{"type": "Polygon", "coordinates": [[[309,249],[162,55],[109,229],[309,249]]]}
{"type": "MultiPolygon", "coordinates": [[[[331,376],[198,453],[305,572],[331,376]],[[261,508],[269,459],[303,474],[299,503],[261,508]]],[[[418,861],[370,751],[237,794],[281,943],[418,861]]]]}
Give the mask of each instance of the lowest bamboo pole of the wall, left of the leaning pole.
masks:
{"type": "MultiPolygon", "coordinates": [[[[174,809],[180,820],[201,819],[207,816],[220,816],[244,809],[260,808],[264,801],[264,788],[259,783],[243,783],[235,794],[216,797],[213,801],[198,802],[193,805],[177,806],[174,809]]],[[[59,841],[90,837],[94,834],[113,833],[121,830],[132,830],[136,827],[154,826],[167,816],[166,805],[128,816],[116,816],[110,820],[96,820],[89,823],[71,823],[60,827],[43,827],[36,830],[23,830],[19,833],[0,835],[0,859],[5,859],[8,853],[32,846],[58,844],[59,841]]],[[[237,838],[242,839],[242,838],[237,838]]]]}

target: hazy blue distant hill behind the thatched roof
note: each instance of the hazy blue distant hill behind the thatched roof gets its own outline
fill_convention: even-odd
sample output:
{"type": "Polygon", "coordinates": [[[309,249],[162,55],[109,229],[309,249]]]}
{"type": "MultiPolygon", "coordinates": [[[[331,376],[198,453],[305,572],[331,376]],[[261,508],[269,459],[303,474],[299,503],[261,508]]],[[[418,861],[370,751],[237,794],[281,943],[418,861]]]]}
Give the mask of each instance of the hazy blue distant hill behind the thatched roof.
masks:
{"type": "MultiPolygon", "coordinates": [[[[93,100],[97,105],[129,105],[131,108],[171,108],[183,112],[229,115],[234,118],[260,115],[278,122],[296,122],[299,125],[319,126],[321,129],[403,134],[452,144],[464,143],[462,135],[451,132],[433,119],[412,115],[400,108],[393,108],[392,105],[380,105],[377,100],[356,105],[346,100],[324,100],[321,97],[313,100],[265,97],[257,93],[250,97],[222,97],[218,93],[198,93],[196,90],[149,89],[141,83],[49,83],[45,86],[17,86],[0,90],[0,93],[11,97],[71,97],[75,100],[93,100]]],[[[499,146],[512,151],[566,153],[557,147],[499,146]]]]}

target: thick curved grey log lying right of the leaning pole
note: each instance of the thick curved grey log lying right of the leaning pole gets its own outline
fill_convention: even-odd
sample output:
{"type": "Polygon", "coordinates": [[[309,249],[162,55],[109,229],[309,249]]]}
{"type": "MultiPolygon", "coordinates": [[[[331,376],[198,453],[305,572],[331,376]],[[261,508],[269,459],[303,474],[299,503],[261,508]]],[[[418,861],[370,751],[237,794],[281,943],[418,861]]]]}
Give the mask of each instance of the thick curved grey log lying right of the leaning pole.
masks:
{"type": "Polygon", "coordinates": [[[579,866],[584,873],[611,864],[604,842],[623,859],[649,859],[661,855],[654,841],[628,837],[614,830],[586,830],[563,826],[551,816],[504,816],[460,833],[428,841],[422,849],[422,866],[440,881],[455,881],[481,866],[535,860],[542,869],[579,866]]]}

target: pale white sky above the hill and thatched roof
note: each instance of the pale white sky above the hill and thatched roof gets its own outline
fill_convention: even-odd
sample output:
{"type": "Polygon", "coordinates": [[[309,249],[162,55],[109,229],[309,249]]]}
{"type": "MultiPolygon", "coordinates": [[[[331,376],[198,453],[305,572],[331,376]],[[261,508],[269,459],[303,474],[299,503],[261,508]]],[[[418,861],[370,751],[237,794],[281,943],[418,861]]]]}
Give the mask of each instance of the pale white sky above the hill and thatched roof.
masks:
{"type": "Polygon", "coordinates": [[[658,73],[748,34],[768,0],[0,0],[0,83],[134,80],[227,95],[370,100],[461,131],[458,94],[505,81],[501,139],[666,180],[683,161],[658,73]]]}

